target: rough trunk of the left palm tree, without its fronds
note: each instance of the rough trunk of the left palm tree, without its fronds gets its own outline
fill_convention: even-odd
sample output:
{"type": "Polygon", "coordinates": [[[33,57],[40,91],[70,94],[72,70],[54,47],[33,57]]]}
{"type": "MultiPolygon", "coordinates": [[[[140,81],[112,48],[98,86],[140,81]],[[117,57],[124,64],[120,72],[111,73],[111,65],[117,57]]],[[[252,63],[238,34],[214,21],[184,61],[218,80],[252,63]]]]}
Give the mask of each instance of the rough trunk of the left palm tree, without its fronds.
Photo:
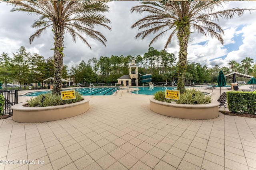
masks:
{"type": "Polygon", "coordinates": [[[52,94],[60,95],[62,89],[62,69],[63,69],[63,43],[64,43],[64,29],[61,26],[54,25],[54,87],[52,94]]]}

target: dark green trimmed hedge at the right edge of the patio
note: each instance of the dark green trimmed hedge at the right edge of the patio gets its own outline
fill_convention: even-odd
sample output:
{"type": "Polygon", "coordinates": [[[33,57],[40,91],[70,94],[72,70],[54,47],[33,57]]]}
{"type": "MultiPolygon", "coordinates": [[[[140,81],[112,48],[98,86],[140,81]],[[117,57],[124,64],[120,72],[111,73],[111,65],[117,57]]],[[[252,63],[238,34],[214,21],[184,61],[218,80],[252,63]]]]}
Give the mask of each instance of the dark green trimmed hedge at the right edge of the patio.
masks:
{"type": "Polygon", "coordinates": [[[250,113],[256,112],[256,92],[227,92],[228,110],[232,113],[250,113]]]}

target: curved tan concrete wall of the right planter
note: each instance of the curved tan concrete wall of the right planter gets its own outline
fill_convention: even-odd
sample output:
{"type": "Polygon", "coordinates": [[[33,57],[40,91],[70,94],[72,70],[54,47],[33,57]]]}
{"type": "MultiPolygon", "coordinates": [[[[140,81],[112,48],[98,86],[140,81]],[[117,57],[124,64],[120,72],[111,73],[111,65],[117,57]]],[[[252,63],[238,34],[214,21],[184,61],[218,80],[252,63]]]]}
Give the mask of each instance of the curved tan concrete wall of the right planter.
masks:
{"type": "Polygon", "coordinates": [[[214,119],[219,115],[219,102],[209,104],[173,104],[150,98],[150,109],[161,115],[181,119],[214,119]]]}

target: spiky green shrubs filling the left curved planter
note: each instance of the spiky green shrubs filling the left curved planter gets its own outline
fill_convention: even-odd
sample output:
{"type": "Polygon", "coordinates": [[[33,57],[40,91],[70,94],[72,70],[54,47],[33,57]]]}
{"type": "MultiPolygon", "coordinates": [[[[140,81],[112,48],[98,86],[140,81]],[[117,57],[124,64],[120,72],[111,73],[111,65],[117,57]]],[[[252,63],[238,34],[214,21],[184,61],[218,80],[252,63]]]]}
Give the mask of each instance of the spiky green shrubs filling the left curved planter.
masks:
{"type": "Polygon", "coordinates": [[[30,100],[26,100],[28,102],[29,107],[46,107],[46,106],[58,106],[64,104],[76,103],[84,100],[83,97],[76,92],[76,99],[72,100],[61,100],[61,96],[48,94],[41,94],[36,96],[35,98],[31,98],[30,100]]]}

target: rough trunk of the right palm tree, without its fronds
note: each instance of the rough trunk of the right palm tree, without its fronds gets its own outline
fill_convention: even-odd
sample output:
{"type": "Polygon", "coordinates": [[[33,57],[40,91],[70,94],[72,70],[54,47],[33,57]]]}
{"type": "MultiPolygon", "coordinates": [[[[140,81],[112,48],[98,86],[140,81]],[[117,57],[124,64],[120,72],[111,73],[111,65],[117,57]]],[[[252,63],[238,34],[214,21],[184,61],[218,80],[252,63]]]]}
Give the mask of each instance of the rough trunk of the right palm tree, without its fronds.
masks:
{"type": "Polygon", "coordinates": [[[179,61],[178,61],[178,84],[177,89],[180,93],[184,93],[185,89],[185,74],[187,69],[187,55],[188,55],[188,39],[190,36],[190,25],[187,18],[177,22],[178,33],[177,37],[180,44],[179,61]]]}

